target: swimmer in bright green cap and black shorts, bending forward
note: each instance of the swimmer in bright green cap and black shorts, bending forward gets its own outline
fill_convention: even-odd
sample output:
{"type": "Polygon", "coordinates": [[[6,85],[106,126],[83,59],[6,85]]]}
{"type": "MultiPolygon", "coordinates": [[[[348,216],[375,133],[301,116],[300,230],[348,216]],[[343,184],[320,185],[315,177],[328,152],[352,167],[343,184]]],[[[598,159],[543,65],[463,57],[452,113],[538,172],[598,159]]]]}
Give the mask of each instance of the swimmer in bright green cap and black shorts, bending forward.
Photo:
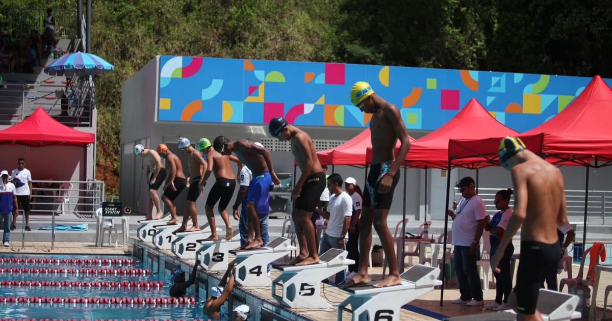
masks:
{"type": "Polygon", "coordinates": [[[234,177],[234,172],[231,169],[230,161],[238,164],[238,172],[242,169],[242,163],[234,155],[221,155],[214,150],[211,142],[202,138],[198,141],[198,150],[206,150],[206,158],[208,160],[208,168],[204,174],[204,183],[206,184],[212,172],[215,173],[215,185],[212,185],[211,191],[206,199],[206,218],[211,226],[211,236],[206,240],[218,240],[217,223],[215,222],[215,214],[212,212],[212,207],[219,202],[217,207],[223,222],[225,223],[225,240],[229,241],[232,237],[232,228],[230,224],[230,215],[226,208],[230,204],[231,197],[234,195],[236,181],[240,181],[240,176],[234,177]]]}

